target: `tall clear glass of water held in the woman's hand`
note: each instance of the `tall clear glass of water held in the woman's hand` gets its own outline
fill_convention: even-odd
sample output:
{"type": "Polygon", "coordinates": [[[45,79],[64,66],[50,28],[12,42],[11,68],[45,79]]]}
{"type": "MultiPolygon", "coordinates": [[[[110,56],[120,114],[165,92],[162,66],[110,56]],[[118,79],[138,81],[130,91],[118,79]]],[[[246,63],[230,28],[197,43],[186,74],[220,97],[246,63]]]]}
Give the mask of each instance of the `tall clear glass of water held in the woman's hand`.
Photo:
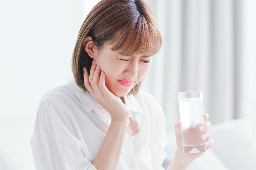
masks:
{"type": "Polygon", "coordinates": [[[178,100],[183,153],[206,152],[204,132],[199,131],[204,124],[203,92],[178,92],[178,100]]]}

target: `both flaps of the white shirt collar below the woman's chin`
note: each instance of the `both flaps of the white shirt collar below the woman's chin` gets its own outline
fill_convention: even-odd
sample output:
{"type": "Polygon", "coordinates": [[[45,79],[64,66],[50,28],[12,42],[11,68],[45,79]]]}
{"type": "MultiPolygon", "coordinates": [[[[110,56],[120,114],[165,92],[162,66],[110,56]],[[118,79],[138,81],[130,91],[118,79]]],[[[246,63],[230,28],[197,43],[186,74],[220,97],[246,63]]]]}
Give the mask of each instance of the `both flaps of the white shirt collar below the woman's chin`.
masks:
{"type": "MultiPolygon", "coordinates": [[[[71,78],[68,81],[68,85],[71,87],[71,89],[75,92],[77,98],[80,100],[80,102],[83,104],[84,108],[86,109],[87,112],[91,112],[95,108],[99,110],[103,110],[104,108],[100,106],[100,104],[95,101],[89,92],[84,92],[82,88],[80,88],[76,82],[74,77],[71,78]]],[[[142,110],[140,108],[139,103],[137,102],[136,98],[134,95],[125,95],[124,96],[124,102],[128,109],[132,112],[135,113],[142,113],[142,110]]]]}

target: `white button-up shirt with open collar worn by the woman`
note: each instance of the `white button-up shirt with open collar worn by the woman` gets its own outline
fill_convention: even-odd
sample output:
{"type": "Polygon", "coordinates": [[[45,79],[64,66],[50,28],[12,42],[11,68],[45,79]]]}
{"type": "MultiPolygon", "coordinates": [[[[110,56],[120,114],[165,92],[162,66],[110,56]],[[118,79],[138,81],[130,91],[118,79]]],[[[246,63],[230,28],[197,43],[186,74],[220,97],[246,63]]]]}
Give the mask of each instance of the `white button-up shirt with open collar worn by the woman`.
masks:
{"type": "MultiPolygon", "coordinates": [[[[140,90],[124,96],[130,118],[140,127],[142,144],[134,154],[129,135],[117,170],[163,170],[166,144],[165,119],[156,99],[140,90]]],[[[40,100],[31,147],[37,170],[96,170],[92,165],[111,121],[89,92],[72,78],[40,100]]]]}

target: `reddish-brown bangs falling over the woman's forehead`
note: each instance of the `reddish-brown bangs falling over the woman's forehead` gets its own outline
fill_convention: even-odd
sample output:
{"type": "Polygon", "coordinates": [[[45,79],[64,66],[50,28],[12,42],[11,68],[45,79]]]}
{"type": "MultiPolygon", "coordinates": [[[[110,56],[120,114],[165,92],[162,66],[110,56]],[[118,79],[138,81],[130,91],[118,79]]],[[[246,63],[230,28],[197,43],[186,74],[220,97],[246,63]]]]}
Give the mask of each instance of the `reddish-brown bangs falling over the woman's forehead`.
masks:
{"type": "Polygon", "coordinates": [[[116,33],[113,51],[120,51],[123,55],[146,55],[158,53],[162,47],[162,36],[156,23],[148,23],[143,15],[139,15],[136,22],[127,24],[116,33]]]}

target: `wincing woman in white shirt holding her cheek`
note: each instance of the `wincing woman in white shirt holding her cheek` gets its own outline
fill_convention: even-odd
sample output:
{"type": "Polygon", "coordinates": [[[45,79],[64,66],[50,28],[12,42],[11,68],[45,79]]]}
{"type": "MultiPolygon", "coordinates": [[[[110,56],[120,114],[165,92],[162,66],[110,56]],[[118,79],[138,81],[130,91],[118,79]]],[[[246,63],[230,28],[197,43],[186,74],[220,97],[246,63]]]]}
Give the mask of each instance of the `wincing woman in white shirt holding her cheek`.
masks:
{"type": "MultiPolygon", "coordinates": [[[[85,19],[72,57],[72,78],[47,92],[31,138],[36,169],[164,169],[164,113],[139,90],[162,37],[142,0],[102,0],[85,19]]],[[[204,115],[206,120],[208,115],[204,115]]],[[[213,145],[206,122],[205,145],[213,145]]],[[[177,150],[168,167],[187,169],[202,153],[177,150]]]]}

